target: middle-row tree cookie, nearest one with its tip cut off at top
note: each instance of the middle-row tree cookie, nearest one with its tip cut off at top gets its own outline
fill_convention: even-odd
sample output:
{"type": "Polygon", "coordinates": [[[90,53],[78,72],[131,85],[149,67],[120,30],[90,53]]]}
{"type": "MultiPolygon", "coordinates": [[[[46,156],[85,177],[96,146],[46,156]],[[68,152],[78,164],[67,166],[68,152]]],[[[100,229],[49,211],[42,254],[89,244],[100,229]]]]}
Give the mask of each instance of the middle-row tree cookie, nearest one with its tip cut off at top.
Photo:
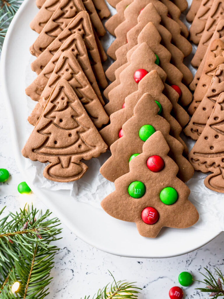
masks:
{"type": "Polygon", "coordinates": [[[135,0],[125,9],[125,21],[115,29],[116,39],[108,48],[107,53],[114,60],[116,59],[115,51],[127,43],[126,35],[128,31],[137,25],[137,19],[140,11],[149,3],[154,4],[162,18],[163,25],[171,32],[174,45],[176,45],[177,48],[183,52],[184,56],[187,56],[191,53],[191,44],[187,39],[185,39],[184,36],[180,34],[179,24],[177,24],[174,19],[171,19],[167,16],[168,9],[162,2],[158,0],[135,0]]]}

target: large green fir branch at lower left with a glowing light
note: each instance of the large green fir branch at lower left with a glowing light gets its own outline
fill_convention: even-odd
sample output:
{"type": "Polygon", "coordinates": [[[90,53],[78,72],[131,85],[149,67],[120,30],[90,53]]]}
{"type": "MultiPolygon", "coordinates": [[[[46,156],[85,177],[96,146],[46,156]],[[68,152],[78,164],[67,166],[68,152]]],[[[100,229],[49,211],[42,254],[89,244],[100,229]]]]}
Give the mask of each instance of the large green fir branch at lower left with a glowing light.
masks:
{"type": "MultiPolygon", "coordinates": [[[[0,216],[3,213],[0,211],[0,216]]],[[[0,298],[42,299],[48,295],[53,259],[61,228],[57,218],[49,219],[49,210],[25,208],[0,220],[0,298]],[[19,290],[12,293],[14,282],[19,290]]]]}

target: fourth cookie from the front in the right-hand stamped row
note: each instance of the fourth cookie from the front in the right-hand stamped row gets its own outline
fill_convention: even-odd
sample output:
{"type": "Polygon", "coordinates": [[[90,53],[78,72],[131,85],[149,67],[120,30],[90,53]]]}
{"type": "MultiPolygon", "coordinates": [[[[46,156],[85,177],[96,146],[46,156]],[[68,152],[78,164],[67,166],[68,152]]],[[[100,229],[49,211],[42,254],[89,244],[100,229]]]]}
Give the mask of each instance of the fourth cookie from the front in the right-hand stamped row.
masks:
{"type": "Polygon", "coordinates": [[[190,89],[191,90],[195,90],[196,89],[196,86],[197,86],[197,83],[202,75],[202,71],[203,71],[203,68],[204,68],[204,65],[205,65],[205,60],[206,60],[206,57],[208,55],[208,51],[209,51],[209,48],[210,48],[210,45],[211,45],[211,42],[213,42],[215,39],[221,39],[223,42],[224,42],[224,20],[221,20],[218,22],[217,26],[216,26],[216,30],[215,32],[213,33],[213,36],[210,40],[210,43],[208,45],[208,48],[206,50],[206,53],[202,59],[202,62],[200,63],[200,66],[199,68],[197,69],[197,72],[194,76],[194,79],[193,81],[191,82],[191,84],[189,85],[190,89]]]}

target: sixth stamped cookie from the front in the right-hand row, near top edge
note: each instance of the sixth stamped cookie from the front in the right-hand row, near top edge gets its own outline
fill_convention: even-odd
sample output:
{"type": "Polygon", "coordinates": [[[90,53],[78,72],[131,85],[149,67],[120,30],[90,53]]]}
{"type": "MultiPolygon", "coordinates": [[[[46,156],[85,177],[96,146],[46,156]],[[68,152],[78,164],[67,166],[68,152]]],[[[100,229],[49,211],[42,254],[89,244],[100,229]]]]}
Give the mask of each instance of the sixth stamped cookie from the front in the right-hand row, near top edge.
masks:
{"type": "Polygon", "coordinates": [[[189,39],[199,44],[214,0],[202,0],[189,30],[189,39]]]}

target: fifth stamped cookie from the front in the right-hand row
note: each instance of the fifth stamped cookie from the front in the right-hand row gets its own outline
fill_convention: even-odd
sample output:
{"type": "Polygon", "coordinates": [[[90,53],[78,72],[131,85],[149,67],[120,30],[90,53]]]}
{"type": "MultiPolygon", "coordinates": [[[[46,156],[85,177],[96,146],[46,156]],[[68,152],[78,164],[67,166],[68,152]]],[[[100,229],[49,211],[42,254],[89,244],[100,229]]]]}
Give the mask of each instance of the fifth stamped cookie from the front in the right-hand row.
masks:
{"type": "Polygon", "coordinates": [[[214,3],[209,11],[208,21],[206,22],[205,30],[203,31],[194,57],[191,60],[191,64],[194,67],[199,67],[206,53],[212,35],[216,29],[216,26],[218,22],[222,19],[224,19],[224,3],[221,0],[214,0],[214,3]]]}

